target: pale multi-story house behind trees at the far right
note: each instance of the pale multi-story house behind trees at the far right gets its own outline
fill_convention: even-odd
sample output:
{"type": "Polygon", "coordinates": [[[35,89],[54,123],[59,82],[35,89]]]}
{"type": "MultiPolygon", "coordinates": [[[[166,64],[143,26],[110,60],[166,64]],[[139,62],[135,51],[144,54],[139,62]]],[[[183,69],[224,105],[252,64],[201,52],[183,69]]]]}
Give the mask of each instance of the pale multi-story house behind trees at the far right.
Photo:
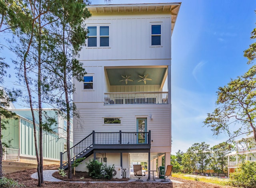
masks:
{"type": "Polygon", "coordinates": [[[254,137],[248,137],[236,142],[236,152],[228,155],[228,176],[234,172],[242,161],[256,162],[256,142],[254,137]]]}

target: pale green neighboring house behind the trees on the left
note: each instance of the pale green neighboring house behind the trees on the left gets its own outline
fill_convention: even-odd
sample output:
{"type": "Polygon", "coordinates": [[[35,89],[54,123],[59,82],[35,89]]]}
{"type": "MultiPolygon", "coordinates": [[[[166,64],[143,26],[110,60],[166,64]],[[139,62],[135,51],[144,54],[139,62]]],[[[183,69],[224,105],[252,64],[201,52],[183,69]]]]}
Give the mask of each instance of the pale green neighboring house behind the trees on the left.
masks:
{"type": "MultiPolygon", "coordinates": [[[[31,111],[30,109],[11,110],[16,113],[16,118],[7,119],[8,121],[5,123],[6,129],[2,130],[2,141],[10,145],[10,147],[4,149],[3,160],[37,164],[31,111]]],[[[43,114],[44,123],[46,123],[46,117],[51,117],[56,121],[51,126],[52,131],[43,131],[44,165],[58,164],[60,152],[66,151],[66,118],[58,115],[54,109],[43,109],[43,114]]],[[[36,109],[35,116],[36,123],[38,123],[38,110],[36,109]]],[[[37,143],[39,143],[38,124],[36,125],[36,133],[37,143]]],[[[70,142],[72,145],[73,128],[70,131],[70,142]]],[[[8,168],[8,166],[4,166],[5,173],[8,168]]]]}

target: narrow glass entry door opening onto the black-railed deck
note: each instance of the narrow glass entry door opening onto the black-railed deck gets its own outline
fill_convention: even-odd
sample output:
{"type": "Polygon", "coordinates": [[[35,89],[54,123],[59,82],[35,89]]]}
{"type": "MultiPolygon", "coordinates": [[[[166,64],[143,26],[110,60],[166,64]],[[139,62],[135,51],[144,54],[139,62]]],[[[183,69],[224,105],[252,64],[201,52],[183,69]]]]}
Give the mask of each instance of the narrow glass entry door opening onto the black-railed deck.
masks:
{"type": "Polygon", "coordinates": [[[147,118],[137,118],[137,142],[139,144],[146,144],[147,143],[147,118]]]}

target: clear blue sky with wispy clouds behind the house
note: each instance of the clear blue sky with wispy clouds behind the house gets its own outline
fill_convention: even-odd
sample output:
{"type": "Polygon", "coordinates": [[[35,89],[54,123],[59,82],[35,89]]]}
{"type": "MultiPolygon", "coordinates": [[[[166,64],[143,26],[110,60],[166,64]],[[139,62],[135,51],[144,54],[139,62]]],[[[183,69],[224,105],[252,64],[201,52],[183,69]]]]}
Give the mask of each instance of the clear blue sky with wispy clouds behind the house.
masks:
{"type": "Polygon", "coordinates": [[[196,142],[212,147],[228,137],[213,137],[202,122],[216,107],[218,87],[250,67],[243,51],[253,42],[256,1],[112,0],[111,4],[165,2],[182,2],[172,34],[172,154],[179,149],[186,152],[196,142]]]}

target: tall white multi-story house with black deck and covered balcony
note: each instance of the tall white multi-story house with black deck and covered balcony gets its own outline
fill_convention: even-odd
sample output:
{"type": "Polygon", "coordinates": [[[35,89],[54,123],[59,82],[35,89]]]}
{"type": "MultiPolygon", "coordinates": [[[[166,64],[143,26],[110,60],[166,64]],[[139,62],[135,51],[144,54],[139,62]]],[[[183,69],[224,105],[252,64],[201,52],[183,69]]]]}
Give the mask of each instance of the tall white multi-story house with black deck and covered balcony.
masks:
{"type": "MultiPolygon", "coordinates": [[[[87,74],[84,82],[74,80],[76,157],[119,166],[123,177],[133,162],[147,162],[148,170],[157,169],[157,159],[158,166],[170,164],[171,36],[180,5],[88,6],[79,57],[87,74]]],[[[66,161],[64,153],[61,166],[66,161]]]]}

